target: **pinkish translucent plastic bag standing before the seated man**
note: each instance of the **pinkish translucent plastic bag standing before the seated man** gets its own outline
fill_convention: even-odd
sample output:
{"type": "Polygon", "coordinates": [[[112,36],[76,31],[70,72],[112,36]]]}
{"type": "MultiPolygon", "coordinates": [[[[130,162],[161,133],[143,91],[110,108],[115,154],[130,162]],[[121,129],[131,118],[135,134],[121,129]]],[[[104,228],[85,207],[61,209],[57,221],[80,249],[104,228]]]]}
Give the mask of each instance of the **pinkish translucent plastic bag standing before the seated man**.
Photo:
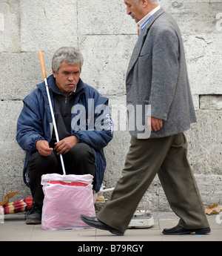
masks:
{"type": "Polygon", "coordinates": [[[92,175],[45,174],[41,177],[44,191],[42,229],[75,229],[89,227],[81,214],[95,217],[92,175]]]}

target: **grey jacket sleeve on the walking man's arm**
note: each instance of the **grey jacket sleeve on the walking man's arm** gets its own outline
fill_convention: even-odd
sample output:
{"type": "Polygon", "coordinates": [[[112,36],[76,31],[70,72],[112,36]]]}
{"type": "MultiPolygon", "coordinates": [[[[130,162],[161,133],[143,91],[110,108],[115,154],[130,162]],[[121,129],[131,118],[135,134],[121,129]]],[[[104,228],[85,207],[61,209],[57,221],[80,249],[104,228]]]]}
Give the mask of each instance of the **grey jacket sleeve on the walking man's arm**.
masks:
{"type": "Polygon", "coordinates": [[[149,97],[151,116],[167,119],[178,79],[178,36],[163,27],[154,38],[152,50],[152,86],[149,97]]]}

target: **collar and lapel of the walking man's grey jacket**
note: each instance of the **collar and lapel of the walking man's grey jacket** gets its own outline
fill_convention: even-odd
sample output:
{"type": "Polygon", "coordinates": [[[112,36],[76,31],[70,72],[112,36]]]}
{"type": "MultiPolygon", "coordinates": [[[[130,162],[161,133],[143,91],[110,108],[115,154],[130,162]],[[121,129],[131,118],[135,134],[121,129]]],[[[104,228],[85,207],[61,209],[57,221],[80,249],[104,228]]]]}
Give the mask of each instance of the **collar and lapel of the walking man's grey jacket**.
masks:
{"type": "Polygon", "coordinates": [[[141,53],[141,48],[144,45],[144,41],[147,37],[147,33],[149,31],[149,28],[152,26],[153,22],[155,22],[156,19],[158,19],[159,16],[161,16],[164,13],[164,9],[161,7],[160,10],[158,10],[152,18],[149,20],[147,25],[144,27],[144,29],[141,31],[141,35],[138,37],[138,41],[135,44],[135,48],[132,52],[132,57],[129,62],[129,67],[127,70],[127,75],[129,74],[129,71],[132,69],[132,67],[135,65],[136,60],[138,59],[138,56],[141,53]]]}

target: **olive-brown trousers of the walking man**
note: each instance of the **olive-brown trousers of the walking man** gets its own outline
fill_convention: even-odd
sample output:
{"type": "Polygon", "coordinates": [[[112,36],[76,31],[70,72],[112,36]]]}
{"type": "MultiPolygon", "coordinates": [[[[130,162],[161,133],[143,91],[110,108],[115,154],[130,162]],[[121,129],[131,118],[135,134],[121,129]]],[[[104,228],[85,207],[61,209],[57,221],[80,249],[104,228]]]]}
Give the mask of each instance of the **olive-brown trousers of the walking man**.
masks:
{"type": "Polygon", "coordinates": [[[111,200],[97,214],[98,220],[124,232],[158,174],[169,205],[180,217],[178,225],[184,229],[209,227],[186,151],[183,133],[148,140],[132,138],[123,176],[118,180],[111,200]]]}

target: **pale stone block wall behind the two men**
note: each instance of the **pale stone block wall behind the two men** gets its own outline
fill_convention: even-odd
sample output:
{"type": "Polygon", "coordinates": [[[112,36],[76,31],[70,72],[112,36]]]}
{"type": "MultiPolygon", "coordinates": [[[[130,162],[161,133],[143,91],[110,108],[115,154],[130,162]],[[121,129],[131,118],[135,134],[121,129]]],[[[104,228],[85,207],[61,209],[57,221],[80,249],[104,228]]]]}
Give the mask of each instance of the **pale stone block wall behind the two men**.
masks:
{"type": "MultiPolygon", "coordinates": [[[[161,0],[181,27],[198,123],[186,131],[189,160],[205,206],[222,203],[222,1],[161,0]]],[[[84,54],[81,78],[110,98],[110,110],[125,105],[125,74],[137,27],[123,0],[0,0],[0,200],[9,191],[30,197],[24,186],[24,151],[16,142],[22,99],[42,81],[38,50],[47,74],[61,46],[84,54]]],[[[115,118],[115,136],[105,149],[104,185],[115,186],[129,147],[124,116],[115,118]]],[[[109,197],[110,194],[107,196],[109,197]]],[[[155,178],[139,205],[169,210],[155,178]]]]}

